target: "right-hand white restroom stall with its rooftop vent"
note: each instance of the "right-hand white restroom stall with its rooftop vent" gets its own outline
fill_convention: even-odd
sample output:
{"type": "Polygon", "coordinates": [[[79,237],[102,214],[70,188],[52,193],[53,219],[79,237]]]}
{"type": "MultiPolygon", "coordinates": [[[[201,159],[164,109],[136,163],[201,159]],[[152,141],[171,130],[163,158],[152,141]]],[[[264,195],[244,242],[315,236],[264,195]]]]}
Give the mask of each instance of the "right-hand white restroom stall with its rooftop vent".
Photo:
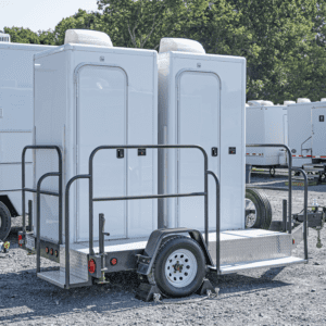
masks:
{"type": "MultiPolygon", "coordinates": [[[[198,145],[221,181],[221,229],[244,227],[246,60],[205,54],[187,39],[163,38],[159,52],[159,143],[198,145]]],[[[160,156],[161,193],[204,190],[203,155],[195,149],[160,156]]],[[[204,199],[166,199],[165,227],[203,230],[204,199]]],[[[216,187],[209,177],[209,229],[216,227],[216,187]]]]}

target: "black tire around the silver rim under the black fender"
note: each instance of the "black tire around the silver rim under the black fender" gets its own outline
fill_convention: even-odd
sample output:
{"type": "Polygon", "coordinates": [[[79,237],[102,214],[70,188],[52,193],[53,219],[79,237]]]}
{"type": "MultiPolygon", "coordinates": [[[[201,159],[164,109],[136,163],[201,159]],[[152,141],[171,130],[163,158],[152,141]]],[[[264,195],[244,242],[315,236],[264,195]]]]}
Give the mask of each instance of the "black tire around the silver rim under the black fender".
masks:
{"type": "MultiPolygon", "coordinates": [[[[181,255],[180,255],[181,256],[181,255]]],[[[183,279],[183,276],[186,275],[188,266],[179,265],[178,269],[173,272],[179,275],[173,275],[183,279]],[[183,269],[185,267],[185,269],[183,269]],[[180,271],[179,271],[180,268],[180,271]]],[[[189,265],[190,267],[190,265],[189,265]]],[[[191,268],[191,267],[190,267],[191,268]]],[[[154,266],[152,269],[152,275],[154,277],[158,288],[162,291],[163,294],[173,298],[187,297],[196,292],[199,287],[202,285],[203,278],[205,276],[205,258],[202,252],[201,247],[197,241],[187,238],[187,237],[172,237],[166,240],[166,242],[160,247],[159,253],[156,255],[154,266]],[[165,275],[165,265],[168,256],[176,250],[187,250],[196,259],[197,272],[192,281],[185,287],[176,287],[171,284],[171,280],[167,279],[165,275]]],[[[187,276],[186,276],[187,277],[187,276]]],[[[176,279],[174,277],[174,279],[176,279]]]]}

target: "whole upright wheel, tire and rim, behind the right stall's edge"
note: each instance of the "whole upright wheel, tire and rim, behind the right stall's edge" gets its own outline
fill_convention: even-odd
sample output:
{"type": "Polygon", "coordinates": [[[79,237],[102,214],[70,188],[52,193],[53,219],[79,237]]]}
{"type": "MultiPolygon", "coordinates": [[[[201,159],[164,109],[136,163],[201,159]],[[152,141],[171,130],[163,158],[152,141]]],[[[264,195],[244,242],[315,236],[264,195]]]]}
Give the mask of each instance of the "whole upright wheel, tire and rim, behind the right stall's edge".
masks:
{"type": "Polygon", "coordinates": [[[246,189],[244,218],[247,228],[269,228],[272,223],[272,206],[265,192],[253,188],[246,189]]]}

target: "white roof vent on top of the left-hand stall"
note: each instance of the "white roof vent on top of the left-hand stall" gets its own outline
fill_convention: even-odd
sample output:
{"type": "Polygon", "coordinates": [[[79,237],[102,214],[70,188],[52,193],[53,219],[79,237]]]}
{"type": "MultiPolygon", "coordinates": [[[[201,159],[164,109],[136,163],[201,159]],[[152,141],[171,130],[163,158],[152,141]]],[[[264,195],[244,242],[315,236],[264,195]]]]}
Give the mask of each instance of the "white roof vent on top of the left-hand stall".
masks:
{"type": "Polygon", "coordinates": [[[108,34],[89,29],[67,29],[65,32],[64,43],[113,47],[108,34]]]}

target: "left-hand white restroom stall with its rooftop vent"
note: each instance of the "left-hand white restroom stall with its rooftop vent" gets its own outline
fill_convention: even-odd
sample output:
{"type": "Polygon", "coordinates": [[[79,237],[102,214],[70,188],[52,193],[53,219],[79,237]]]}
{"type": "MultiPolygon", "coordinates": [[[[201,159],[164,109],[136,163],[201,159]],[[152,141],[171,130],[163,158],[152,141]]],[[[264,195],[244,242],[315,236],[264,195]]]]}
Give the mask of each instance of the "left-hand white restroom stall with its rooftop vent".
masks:
{"type": "MultiPolygon", "coordinates": [[[[114,48],[108,35],[67,30],[65,45],[35,57],[36,145],[63,150],[64,185],[77,174],[88,174],[88,159],[99,146],[158,143],[156,51],[114,48]]],[[[58,171],[54,151],[36,151],[37,180],[58,171]]],[[[58,178],[43,183],[58,190],[58,178]]],[[[70,239],[86,241],[88,180],[72,187],[70,239]]],[[[99,151],[93,160],[93,197],[158,193],[158,153],[148,149],[99,151]]],[[[98,216],[106,220],[110,239],[149,236],[158,226],[156,200],[93,203],[93,235],[98,216]]],[[[58,240],[58,198],[41,196],[41,236],[58,240]]],[[[63,224],[64,225],[64,224],[63,224]]]]}

